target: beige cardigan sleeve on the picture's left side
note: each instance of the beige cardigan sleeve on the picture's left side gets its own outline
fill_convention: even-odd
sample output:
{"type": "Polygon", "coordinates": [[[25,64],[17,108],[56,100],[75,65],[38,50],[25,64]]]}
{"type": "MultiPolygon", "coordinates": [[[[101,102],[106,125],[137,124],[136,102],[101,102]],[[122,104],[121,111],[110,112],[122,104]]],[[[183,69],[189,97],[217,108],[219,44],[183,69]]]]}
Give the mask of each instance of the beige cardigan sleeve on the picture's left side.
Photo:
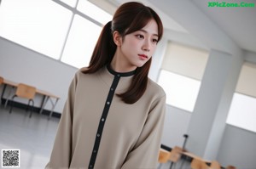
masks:
{"type": "Polygon", "coordinates": [[[55,136],[55,143],[50,155],[47,169],[68,168],[71,161],[72,127],[73,127],[73,104],[77,79],[73,78],[64,105],[61,120],[55,136]]]}

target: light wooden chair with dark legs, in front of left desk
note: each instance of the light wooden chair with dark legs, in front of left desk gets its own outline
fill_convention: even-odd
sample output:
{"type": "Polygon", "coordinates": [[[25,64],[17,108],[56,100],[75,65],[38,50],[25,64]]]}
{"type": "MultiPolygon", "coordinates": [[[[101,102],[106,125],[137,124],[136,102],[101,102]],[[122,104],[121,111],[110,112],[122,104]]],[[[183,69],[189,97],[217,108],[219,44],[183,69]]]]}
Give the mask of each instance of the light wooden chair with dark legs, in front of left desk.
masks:
{"type": "MultiPolygon", "coordinates": [[[[27,104],[27,107],[26,107],[26,111],[28,110],[30,103],[32,103],[32,110],[33,110],[33,107],[34,107],[34,100],[33,99],[34,99],[35,94],[36,94],[36,87],[28,86],[28,85],[23,84],[23,83],[18,84],[15,95],[11,99],[12,102],[11,102],[9,113],[12,112],[15,97],[28,99],[28,104],[27,104]]],[[[29,115],[30,118],[32,116],[32,110],[31,110],[31,113],[29,115]]]]}

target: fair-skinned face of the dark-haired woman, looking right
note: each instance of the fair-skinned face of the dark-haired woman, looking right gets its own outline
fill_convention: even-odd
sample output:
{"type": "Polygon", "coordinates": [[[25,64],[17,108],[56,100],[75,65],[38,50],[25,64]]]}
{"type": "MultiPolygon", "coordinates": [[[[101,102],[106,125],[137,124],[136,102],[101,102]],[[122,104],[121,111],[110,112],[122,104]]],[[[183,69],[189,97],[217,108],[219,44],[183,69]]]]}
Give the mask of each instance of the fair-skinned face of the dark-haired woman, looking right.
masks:
{"type": "Polygon", "coordinates": [[[155,20],[150,20],[141,30],[120,37],[116,53],[118,60],[125,70],[135,70],[152,57],[157,42],[158,25],[155,20]]]}

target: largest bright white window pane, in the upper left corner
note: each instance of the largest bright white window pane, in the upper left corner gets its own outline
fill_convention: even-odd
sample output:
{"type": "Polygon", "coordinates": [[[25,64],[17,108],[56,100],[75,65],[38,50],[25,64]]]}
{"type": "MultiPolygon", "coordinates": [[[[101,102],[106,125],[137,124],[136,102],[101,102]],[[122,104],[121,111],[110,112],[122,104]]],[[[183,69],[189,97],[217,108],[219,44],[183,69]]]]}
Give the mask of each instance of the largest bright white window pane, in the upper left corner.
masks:
{"type": "Polygon", "coordinates": [[[59,59],[71,17],[71,11],[49,0],[3,0],[0,36],[59,59]]]}

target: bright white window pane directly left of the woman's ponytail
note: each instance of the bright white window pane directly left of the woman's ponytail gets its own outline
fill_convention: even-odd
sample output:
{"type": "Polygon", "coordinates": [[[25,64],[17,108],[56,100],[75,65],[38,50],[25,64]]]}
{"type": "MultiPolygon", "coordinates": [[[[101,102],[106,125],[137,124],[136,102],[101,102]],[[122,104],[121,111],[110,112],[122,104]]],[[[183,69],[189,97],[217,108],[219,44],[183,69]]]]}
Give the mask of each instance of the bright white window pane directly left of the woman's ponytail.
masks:
{"type": "Polygon", "coordinates": [[[101,31],[102,27],[76,14],[61,61],[78,68],[89,65],[90,56],[101,31]]]}

